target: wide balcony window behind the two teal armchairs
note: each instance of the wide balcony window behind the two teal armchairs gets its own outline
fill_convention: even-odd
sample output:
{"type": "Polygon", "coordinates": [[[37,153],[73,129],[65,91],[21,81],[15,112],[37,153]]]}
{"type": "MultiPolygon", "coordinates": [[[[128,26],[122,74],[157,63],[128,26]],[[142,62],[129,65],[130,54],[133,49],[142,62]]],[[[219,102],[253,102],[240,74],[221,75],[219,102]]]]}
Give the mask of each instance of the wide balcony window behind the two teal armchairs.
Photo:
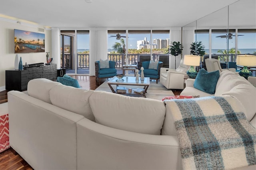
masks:
{"type": "Polygon", "coordinates": [[[108,30],[108,58],[120,68],[126,55],[129,64],[137,63],[142,55],[156,60],[168,55],[169,38],[170,30],[108,30]]]}

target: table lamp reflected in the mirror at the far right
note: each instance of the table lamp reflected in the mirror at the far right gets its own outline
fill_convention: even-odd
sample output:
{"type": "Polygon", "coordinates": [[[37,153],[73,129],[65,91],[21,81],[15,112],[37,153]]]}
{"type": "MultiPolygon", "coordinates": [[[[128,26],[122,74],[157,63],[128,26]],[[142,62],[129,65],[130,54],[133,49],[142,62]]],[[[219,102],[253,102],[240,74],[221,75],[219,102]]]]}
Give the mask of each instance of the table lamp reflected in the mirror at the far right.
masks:
{"type": "Polygon", "coordinates": [[[239,71],[239,75],[248,79],[252,76],[252,72],[248,70],[247,66],[256,66],[256,55],[237,55],[236,56],[237,65],[242,65],[244,68],[239,71]]]}

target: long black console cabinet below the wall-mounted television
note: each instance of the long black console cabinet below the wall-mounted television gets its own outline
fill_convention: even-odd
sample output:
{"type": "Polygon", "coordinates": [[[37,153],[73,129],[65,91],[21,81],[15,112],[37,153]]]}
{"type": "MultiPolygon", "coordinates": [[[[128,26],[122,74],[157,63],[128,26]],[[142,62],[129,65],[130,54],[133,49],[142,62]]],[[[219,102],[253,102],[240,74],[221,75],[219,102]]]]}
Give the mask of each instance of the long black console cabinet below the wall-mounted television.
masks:
{"type": "Polygon", "coordinates": [[[37,78],[55,80],[57,77],[57,65],[43,65],[31,67],[26,70],[6,70],[5,88],[6,90],[24,91],[27,89],[28,81],[37,78]]]}

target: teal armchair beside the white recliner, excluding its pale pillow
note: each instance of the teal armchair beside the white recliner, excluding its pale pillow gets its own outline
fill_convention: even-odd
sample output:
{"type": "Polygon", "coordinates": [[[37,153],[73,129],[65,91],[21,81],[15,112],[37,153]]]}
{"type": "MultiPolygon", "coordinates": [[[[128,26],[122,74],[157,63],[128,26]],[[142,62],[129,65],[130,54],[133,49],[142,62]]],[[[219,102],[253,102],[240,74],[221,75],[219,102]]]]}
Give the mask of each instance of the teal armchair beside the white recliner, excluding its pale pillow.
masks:
{"type": "MultiPolygon", "coordinates": [[[[155,79],[156,84],[158,83],[158,79],[160,78],[160,68],[163,65],[162,61],[158,61],[158,65],[156,69],[149,68],[150,61],[143,61],[142,67],[144,67],[144,77],[149,77],[150,79],[155,79]]],[[[141,71],[141,70],[140,70],[141,71]]]]}

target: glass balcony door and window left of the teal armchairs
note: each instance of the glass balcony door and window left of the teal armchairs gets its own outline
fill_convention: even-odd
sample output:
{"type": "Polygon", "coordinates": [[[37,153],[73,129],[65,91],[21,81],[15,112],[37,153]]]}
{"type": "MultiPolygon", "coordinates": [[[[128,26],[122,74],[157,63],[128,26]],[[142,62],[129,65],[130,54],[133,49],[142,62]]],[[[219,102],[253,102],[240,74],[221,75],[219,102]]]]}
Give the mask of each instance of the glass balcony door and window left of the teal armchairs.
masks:
{"type": "Polygon", "coordinates": [[[89,74],[89,31],[61,30],[61,68],[67,74],[89,74]]]}

